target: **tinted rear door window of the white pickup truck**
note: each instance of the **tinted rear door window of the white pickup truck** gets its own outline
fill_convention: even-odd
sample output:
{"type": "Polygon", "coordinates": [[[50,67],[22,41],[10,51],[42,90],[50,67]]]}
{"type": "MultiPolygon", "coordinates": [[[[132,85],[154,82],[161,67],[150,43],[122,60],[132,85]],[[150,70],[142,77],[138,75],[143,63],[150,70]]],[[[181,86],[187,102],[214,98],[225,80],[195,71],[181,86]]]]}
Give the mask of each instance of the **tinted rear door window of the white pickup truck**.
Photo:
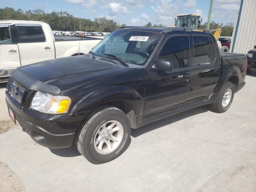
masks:
{"type": "Polygon", "coordinates": [[[42,27],[18,26],[17,28],[20,35],[20,42],[45,42],[45,36],[42,27]]]}

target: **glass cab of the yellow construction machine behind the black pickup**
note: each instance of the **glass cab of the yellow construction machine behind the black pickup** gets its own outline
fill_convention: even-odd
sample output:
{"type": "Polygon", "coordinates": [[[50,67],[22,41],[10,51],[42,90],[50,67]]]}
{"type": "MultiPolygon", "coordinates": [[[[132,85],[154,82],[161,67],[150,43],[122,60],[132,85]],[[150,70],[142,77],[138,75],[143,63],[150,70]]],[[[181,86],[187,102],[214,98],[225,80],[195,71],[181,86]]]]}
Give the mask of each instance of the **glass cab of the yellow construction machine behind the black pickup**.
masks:
{"type": "Polygon", "coordinates": [[[187,28],[200,28],[200,23],[202,21],[200,15],[188,14],[188,15],[178,15],[175,18],[176,27],[187,27],[187,28]]]}

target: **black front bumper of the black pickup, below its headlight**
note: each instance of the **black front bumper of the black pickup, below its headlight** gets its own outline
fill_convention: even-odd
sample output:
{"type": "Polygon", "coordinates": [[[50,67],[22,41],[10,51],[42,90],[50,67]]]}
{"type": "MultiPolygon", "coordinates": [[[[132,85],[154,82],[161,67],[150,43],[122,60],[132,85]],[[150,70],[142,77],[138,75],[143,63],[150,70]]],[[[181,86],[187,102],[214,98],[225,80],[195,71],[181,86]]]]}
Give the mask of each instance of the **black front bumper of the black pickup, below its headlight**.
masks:
{"type": "Polygon", "coordinates": [[[16,120],[31,138],[47,148],[67,148],[72,146],[76,129],[84,118],[82,114],[52,115],[20,107],[19,103],[6,94],[6,103],[16,120]]]}

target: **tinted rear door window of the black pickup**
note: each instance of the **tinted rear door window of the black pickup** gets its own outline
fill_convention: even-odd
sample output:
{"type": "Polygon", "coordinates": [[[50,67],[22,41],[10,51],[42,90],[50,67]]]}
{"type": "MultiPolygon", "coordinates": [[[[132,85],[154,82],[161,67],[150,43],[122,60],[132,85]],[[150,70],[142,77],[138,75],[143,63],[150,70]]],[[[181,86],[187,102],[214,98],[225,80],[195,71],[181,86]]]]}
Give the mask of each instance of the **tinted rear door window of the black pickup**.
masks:
{"type": "Polygon", "coordinates": [[[193,66],[211,64],[211,52],[209,38],[193,36],[194,62],[193,66]]]}

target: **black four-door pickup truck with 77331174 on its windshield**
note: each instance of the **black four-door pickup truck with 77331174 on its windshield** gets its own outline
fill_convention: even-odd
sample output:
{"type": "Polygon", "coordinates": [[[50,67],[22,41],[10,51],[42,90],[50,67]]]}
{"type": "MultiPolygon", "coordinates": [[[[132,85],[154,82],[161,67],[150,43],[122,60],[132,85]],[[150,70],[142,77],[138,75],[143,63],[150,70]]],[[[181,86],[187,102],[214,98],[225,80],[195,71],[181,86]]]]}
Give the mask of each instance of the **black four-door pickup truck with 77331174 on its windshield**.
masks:
{"type": "Polygon", "coordinates": [[[220,53],[205,30],[121,28],[86,55],[17,68],[6,102],[38,144],[75,142],[100,164],[124,152],[131,128],[206,104],[228,110],[245,84],[246,61],[244,54],[220,53]]]}

